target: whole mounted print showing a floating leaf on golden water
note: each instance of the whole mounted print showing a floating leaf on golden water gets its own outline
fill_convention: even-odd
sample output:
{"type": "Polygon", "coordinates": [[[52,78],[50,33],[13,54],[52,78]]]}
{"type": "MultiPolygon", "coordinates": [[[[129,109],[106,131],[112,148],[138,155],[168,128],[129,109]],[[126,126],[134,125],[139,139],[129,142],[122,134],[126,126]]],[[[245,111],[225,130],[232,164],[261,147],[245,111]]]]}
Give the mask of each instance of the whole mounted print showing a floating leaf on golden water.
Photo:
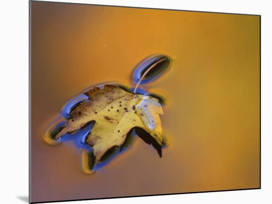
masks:
{"type": "Polygon", "coordinates": [[[259,189],[260,19],[30,1],[30,202],[259,189]]]}

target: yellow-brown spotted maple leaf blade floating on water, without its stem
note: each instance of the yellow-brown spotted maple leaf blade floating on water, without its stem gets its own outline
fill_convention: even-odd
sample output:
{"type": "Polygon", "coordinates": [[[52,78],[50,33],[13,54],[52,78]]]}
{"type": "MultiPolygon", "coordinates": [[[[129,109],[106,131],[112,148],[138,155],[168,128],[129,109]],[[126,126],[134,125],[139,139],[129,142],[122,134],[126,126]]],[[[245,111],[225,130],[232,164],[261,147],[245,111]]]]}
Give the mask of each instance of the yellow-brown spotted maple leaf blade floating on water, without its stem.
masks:
{"type": "Polygon", "coordinates": [[[114,86],[94,87],[84,93],[88,100],[71,111],[71,117],[56,135],[59,138],[85,127],[94,121],[87,143],[93,148],[93,167],[111,148],[120,147],[133,128],[149,133],[160,146],[163,145],[159,114],[163,114],[159,101],[151,96],[126,92],[114,86]]]}

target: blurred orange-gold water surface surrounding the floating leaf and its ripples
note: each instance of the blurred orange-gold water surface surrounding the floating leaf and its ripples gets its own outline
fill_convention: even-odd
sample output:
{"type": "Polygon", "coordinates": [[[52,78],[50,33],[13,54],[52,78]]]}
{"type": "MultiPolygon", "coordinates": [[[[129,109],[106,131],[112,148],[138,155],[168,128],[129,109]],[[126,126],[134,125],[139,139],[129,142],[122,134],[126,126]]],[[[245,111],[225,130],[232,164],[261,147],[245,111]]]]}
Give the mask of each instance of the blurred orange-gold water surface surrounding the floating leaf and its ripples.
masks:
{"type": "Polygon", "coordinates": [[[260,187],[260,16],[31,2],[32,202],[260,187]],[[89,175],[80,151],[46,145],[65,102],[94,84],[132,85],[145,57],[170,71],[148,90],[166,98],[170,146],[140,138],[89,175]]]}

